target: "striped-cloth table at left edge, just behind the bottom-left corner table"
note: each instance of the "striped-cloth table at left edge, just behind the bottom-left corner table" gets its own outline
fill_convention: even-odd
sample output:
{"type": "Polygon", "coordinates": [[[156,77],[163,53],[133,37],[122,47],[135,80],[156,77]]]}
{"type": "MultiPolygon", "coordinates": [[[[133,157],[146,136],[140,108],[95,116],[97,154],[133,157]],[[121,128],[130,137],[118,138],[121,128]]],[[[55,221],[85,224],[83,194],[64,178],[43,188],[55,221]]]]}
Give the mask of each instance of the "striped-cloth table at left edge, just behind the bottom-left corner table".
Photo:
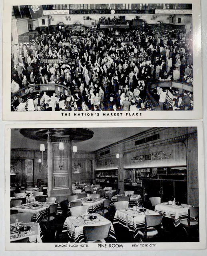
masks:
{"type": "Polygon", "coordinates": [[[33,221],[40,222],[45,216],[48,215],[49,206],[54,203],[48,202],[30,202],[20,206],[12,207],[11,210],[18,210],[18,212],[31,212],[33,213],[33,221]],[[35,206],[36,205],[36,206],[35,206]]]}

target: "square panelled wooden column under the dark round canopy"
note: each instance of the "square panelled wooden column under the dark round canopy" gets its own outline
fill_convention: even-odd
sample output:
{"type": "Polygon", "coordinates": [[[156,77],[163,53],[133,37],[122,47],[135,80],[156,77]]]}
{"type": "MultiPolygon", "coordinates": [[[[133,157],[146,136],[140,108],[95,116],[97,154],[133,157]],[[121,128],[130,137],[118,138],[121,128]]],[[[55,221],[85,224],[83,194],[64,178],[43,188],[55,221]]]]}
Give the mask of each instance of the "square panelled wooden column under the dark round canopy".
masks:
{"type": "Polygon", "coordinates": [[[48,134],[48,196],[65,200],[72,195],[72,152],[71,136],[48,134]],[[59,143],[64,143],[64,150],[59,150],[59,143]],[[62,154],[62,168],[60,167],[62,154]]]}

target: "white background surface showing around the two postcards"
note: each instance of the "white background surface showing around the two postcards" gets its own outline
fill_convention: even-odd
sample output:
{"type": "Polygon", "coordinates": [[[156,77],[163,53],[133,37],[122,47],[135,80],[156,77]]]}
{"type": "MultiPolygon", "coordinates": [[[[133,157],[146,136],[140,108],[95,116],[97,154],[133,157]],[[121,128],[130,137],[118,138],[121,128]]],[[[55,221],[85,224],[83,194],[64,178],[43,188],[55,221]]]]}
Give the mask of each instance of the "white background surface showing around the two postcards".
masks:
{"type": "MultiPolygon", "coordinates": [[[[6,0],[9,1],[9,0],[6,0]]],[[[199,1],[199,0],[198,0],[199,1]]],[[[113,2],[113,1],[112,1],[113,2]]],[[[114,1],[115,2],[115,1],[114,1]]],[[[144,2],[144,1],[143,1],[144,2]]],[[[158,1],[159,2],[159,1],[158,1]]],[[[182,2],[182,1],[181,1],[182,2]]],[[[0,0],[0,106],[2,106],[2,16],[3,16],[3,0],[0,0]]],[[[207,0],[201,0],[201,37],[202,37],[202,66],[203,66],[203,130],[204,130],[204,155],[205,166],[207,166],[207,0]]],[[[10,90],[10,88],[8,88],[10,90]]],[[[156,120],[157,121],[157,120],[156,120]]],[[[165,120],[160,120],[165,121],[165,120]]],[[[86,122],[86,121],[85,121],[86,122]]],[[[147,122],[149,122],[147,120],[147,122]]],[[[153,121],[152,121],[153,122],[153,121]]],[[[2,122],[2,108],[0,108],[0,255],[6,256],[105,256],[110,253],[109,251],[86,251],[86,252],[64,252],[64,251],[4,251],[4,126],[5,124],[17,124],[23,122],[2,122]]],[[[36,123],[36,122],[24,122],[24,123],[36,123]]],[[[44,122],[50,123],[50,122],[44,122]]],[[[54,122],[53,122],[54,123],[54,122]]],[[[65,122],[58,122],[65,123],[65,122]]],[[[179,124],[178,124],[179,125],[179,124]]],[[[152,124],[153,126],[153,124],[152,124]]],[[[207,187],[207,172],[205,171],[205,187],[207,187]]],[[[205,189],[206,195],[206,189],[205,189]]],[[[187,249],[187,243],[186,243],[187,249]]],[[[171,251],[113,251],[113,256],[206,256],[207,250],[171,250],[171,251]]]]}

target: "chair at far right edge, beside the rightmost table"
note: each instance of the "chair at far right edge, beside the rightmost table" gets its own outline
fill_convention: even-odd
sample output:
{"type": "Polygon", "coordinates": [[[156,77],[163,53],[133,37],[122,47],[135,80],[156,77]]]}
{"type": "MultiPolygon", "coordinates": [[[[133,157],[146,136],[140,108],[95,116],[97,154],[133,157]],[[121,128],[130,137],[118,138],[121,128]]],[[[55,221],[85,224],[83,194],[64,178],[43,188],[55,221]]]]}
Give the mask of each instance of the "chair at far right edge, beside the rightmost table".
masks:
{"type": "Polygon", "coordinates": [[[190,229],[198,228],[199,221],[199,207],[189,207],[188,208],[188,218],[187,220],[181,220],[180,224],[184,228],[186,234],[189,234],[190,229]]]}

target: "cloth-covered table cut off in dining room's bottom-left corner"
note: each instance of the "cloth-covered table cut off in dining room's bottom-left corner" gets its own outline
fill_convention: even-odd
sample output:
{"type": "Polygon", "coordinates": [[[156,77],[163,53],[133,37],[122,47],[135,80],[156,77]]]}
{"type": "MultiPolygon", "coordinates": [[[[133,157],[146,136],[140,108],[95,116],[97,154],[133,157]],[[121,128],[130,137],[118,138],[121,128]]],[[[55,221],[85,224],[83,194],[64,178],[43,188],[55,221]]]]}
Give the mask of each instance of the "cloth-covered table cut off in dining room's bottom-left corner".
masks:
{"type": "Polygon", "coordinates": [[[40,228],[40,224],[38,222],[29,222],[24,223],[26,227],[30,228],[27,231],[21,231],[21,232],[11,232],[10,233],[10,242],[16,242],[18,240],[21,240],[22,238],[29,238],[30,243],[42,243],[42,231],[40,228]]]}

